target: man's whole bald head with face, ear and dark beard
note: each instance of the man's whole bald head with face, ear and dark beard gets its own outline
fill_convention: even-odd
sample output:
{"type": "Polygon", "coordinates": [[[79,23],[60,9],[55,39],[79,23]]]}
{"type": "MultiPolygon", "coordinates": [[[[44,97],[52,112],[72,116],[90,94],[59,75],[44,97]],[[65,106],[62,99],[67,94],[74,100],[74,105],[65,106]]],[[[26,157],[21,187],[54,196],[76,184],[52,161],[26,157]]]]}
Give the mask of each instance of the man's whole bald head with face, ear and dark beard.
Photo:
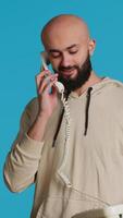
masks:
{"type": "Polygon", "coordinates": [[[66,89],[77,89],[86,83],[91,73],[95,40],[89,38],[87,25],[81,17],[71,14],[53,17],[44,27],[41,39],[49,62],[66,89]]]}

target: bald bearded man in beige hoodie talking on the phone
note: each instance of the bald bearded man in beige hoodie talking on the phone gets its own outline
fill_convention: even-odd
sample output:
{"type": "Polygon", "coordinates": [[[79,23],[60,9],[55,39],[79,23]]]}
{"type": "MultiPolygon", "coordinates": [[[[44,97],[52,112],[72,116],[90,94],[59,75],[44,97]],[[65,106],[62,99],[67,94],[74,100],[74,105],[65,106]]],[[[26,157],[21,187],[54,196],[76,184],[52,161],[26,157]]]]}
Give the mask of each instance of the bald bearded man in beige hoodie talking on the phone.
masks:
{"type": "Polygon", "coordinates": [[[41,39],[54,74],[44,70],[36,76],[38,97],[22,116],[4,166],[7,184],[20,192],[35,182],[32,218],[71,218],[121,204],[123,85],[94,72],[95,40],[81,17],[53,17],[41,39]],[[70,107],[69,142],[57,81],[70,107]]]}

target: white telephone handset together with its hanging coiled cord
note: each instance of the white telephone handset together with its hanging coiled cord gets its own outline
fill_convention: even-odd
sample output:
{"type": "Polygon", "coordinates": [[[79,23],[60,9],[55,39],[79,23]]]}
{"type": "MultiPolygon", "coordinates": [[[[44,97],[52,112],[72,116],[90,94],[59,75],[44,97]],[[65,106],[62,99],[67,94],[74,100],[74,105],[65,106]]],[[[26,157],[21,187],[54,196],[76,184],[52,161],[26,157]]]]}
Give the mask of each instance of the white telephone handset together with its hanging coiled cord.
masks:
{"type": "MultiPolygon", "coordinates": [[[[48,70],[49,59],[48,59],[46,51],[41,52],[41,62],[42,62],[44,69],[48,70]]],[[[64,107],[64,116],[65,116],[65,120],[66,120],[65,152],[64,152],[62,164],[57,171],[57,175],[59,175],[59,178],[69,186],[70,181],[66,178],[66,175],[63,173],[63,169],[65,168],[65,165],[66,165],[69,147],[70,147],[70,107],[69,107],[67,100],[64,98],[63,84],[60,82],[56,82],[56,87],[58,88],[59,93],[61,94],[61,101],[64,107]]]]}

